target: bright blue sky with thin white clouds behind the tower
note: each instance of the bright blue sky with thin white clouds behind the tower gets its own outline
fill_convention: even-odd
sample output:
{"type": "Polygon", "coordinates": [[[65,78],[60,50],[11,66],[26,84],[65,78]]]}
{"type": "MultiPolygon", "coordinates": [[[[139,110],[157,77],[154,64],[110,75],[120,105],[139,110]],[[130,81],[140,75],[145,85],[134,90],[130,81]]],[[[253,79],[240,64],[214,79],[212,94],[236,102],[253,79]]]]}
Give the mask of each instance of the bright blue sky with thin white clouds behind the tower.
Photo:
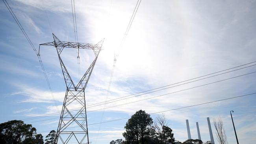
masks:
{"type": "MultiPolygon", "coordinates": [[[[61,41],[75,41],[69,0],[7,2],[37,49],[39,44],[53,41],[52,33],[61,41]]],[[[85,89],[88,105],[197,78],[256,60],[255,0],[142,0],[121,48],[121,41],[136,3],[137,0],[75,1],[78,41],[97,43],[105,38],[85,89]],[[113,60],[117,54],[119,56],[107,95],[113,60]]],[[[55,48],[41,46],[40,55],[57,106],[48,89],[37,55],[3,2],[0,4],[0,13],[0,122],[24,120],[58,112],[63,105],[66,87],[55,48]]],[[[77,83],[79,76],[76,50],[65,49],[61,57],[72,79],[77,83]]],[[[92,60],[93,54],[90,51],[80,51],[81,73],[87,70],[92,60]]],[[[250,66],[226,74],[217,73],[221,75],[89,107],[87,111],[93,111],[142,100],[88,112],[87,121],[88,124],[95,124],[129,118],[140,109],[150,114],[255,93],[256,73],[252,73],[255,71],[256,67],[250,66]],[[221,81],[223,79],[227,80],[221,81]],[[213,83],[215,81],[219,82],[213,83]],[[212,84],[197,87],[207,83],[212,84]],[[190,89],[192,87],[196,88],[190,89]],[[160,96],[163,94],[167,95],[160,96]],[[159,97],[152,98],[155,96],[159,97]],[[150,99],[143,100],[145,98],[150,99]]],[[[256,144],[255,103],[256,94],[252,94],[151,114],[151,117],[155,120],[157,116],[164,114],[169,127],[173,129],[175,139],[182,142],[187,140],[186,120],[189,120],[193,139],[198,138],[198,122],[202,141],[210,140],[206,119],[210,117],[214,140],[217,143],[213,119],[220,116],[226,129],[227,140],[234,144],[236,137],[230,117],[230,111],[233,110],[239,142],[256,144]]],[[[36,127],[37,133],[43,134],[44,137],[49,131],[58,128],[58,121],[59,114],[24,120],[26,124],[36,127]]],[[[127,119],[89,125],[89,141],[92,144],[108,144],[111,140],[124,139],[122,133],[125,131],[126,122],[127,119]]]]}

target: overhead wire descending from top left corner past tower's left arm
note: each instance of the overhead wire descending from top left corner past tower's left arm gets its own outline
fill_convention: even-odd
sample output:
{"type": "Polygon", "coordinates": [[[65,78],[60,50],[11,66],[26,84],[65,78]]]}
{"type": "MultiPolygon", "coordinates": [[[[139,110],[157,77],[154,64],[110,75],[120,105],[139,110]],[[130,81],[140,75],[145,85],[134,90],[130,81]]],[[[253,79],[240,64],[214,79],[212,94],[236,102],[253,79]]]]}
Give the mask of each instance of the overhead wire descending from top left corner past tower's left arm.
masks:
{"type": "Polygon", "coordinates": [[[43,62],[42,62],[42,59],[41,59],[39,53],[38,53],[37,50],[35,49],[35,46],[33,45],[32,41],[31,41],[30,38],[28,37],[26,31],[23,29],[22,25],[20,24],[20,22],[19,22],[18,18],[16,17],[15,13],[14,13],[13,10],[11,9],[11,7],[9,6],[8,2],[7,2],[6,0],[3,0],[3,2],[4,2],[4,4],[6,5],[7,9],[9,10],[9,12],[11,13],[13,19],[15,20],[15,22],[16,22],[17,25],[19,26],[20,30],[22,31],[22,33],[24,34],[24,36],[25,36],[26,39],[28,40],[28,42],[29,42],[30,46],[32,47],[33,51],[34,51],[35,54],[37,55],[37,57],[38,57],[38,59],[39,59],[40,66],[41,66],[41,68],[42,68],[42,70],[43,70],[43,73],[44,73],[44,76],[45,76],[47,85],[48,85],[48,87],[49,87],[50,93],[51,93],[51,95],[52,95],[52,98],[53,98],[53,100],[54,100],[54,103],[55,103],[55,105],[56,105],[56,108],[57,108],[57,110],[59,111],[58,105],[57,105],[57,103],[56,103],[56,100],[55,100],[54,95],[53,95],[53,92],[52,92],[52,88],[51,88],[51,86],[50,86],[50,82],[49,82],[49,80],[48,80],[48,77],[47,77],[47,74],[46,74],[46,71],[45,71],[45,67],[44,67],[44,65],[43,65],[43,62]]]}

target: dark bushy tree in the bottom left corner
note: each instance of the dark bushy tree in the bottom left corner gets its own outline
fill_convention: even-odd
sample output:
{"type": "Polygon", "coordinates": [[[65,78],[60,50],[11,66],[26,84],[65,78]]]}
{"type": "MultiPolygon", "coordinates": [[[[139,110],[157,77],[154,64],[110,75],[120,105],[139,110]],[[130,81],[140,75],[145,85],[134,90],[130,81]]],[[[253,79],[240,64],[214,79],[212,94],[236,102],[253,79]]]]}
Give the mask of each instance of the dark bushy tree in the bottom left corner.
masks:
{"type": "Polygon", "coordinates": [[[36,129],[22,120],[11,120],[0,124],[1,144],[33,144],[36,129]]]}

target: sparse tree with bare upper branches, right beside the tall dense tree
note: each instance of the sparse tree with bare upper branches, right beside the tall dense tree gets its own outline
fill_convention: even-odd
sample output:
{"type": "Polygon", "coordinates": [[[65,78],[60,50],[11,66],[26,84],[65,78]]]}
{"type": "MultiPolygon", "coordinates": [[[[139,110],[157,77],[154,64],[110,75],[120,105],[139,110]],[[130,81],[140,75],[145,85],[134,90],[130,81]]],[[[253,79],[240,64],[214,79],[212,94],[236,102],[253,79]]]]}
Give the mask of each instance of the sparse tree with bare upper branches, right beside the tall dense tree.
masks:
{"type": "Polygon", "coordinates": [[[173,130],[167,126],[165,115],[158,116],[154,122],[154,127],[156,129],[156,138],[158,139],[159,144],[173,144],[173,130]]]}

